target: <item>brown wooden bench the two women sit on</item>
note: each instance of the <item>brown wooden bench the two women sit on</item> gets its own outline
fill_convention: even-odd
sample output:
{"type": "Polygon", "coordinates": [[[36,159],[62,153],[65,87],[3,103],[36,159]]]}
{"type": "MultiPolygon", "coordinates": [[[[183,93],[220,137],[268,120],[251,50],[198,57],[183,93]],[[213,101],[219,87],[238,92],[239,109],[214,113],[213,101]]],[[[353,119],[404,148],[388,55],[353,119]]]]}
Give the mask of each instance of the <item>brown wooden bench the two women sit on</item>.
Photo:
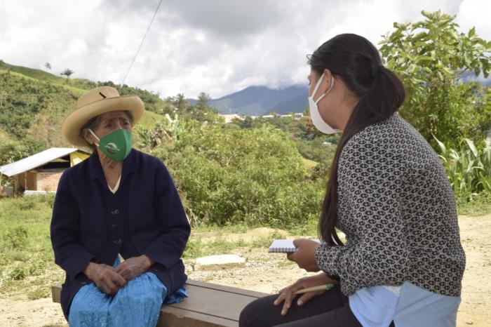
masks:
{"type": "MultiPolygon", "coordinates": [[[[161,308],[157,326],[236,327],[245,305],[266,293],[188,279],[189,298],[161,308]]],[[[53,302],[60,303],[61,284],[51,286],[53,302]]]]}

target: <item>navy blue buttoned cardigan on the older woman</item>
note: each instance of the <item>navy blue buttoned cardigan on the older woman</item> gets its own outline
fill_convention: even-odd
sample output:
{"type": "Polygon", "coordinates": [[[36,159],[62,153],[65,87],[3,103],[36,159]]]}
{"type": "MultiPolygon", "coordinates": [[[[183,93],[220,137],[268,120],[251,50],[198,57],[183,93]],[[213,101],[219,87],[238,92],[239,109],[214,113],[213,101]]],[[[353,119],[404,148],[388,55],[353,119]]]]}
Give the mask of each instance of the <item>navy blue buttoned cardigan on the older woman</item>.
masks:
{"type": "Polygon", "coordinates": [[[61,305],[68,317],[72,298],[90,280],[88,262],[113,265],[123,256],[145,254],[149,269],[171,294],[187,276],[181,255],[190,227],[173,180],[162,161],[135,149],[123,161],[119,189],[109,191],[95,152],[60,178],[51,220],[55,262],[66,272],[61,305]]]}

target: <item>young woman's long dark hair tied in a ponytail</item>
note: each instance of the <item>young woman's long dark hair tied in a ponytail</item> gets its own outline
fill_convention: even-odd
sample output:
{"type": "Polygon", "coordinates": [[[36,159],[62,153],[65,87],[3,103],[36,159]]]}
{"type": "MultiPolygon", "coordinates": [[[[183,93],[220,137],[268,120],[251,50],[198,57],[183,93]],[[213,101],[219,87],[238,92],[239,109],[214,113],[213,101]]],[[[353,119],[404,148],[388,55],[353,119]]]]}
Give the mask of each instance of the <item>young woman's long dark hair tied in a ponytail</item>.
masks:
{"type": "Polygon", "coordinates": [[[320,46],[309,56],[311,69],[342,79],[359,99],[337,145],[330,178],[325,192],[319,234],[328,245],[341,245],[336,232],[337,222],[337,166],[344,145],[363,128],[389,119],[404,102],[401,80],[382,65],[377,48],[363,36],[340,34],[320,46]]]}

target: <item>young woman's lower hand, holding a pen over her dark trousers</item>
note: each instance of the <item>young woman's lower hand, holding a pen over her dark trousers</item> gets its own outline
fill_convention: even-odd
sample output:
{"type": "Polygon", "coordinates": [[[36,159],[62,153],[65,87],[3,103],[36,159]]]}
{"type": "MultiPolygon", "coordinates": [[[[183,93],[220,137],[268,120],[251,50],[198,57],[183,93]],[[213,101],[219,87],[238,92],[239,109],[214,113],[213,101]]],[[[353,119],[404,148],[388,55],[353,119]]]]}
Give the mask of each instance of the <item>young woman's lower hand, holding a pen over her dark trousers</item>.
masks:
{"type": "MultiPolygon", "coordinates": [[[[316,274],[315,276],[301,278],[292,285],[283,288],[280,291],[280,296],[274,301],[274,305],[280,305],[281,302],[284,302],[283,308],[281,309],[281,315],[285,316],[285,314],[288,313],[288,309],[292,306],[292,300],[297,296],[293,294],[294,292],[303,288],[321,286],[328,283],[337,283],[337,281],[330,279],[329,276],[323,272],[321,274],[316,274]]],[[[300,298],[297,300],[297,305],[300,307],[307,303],[311,298],[321,295],[324,292],[325,291],[315,291],[301,294],[300,298]]]]}

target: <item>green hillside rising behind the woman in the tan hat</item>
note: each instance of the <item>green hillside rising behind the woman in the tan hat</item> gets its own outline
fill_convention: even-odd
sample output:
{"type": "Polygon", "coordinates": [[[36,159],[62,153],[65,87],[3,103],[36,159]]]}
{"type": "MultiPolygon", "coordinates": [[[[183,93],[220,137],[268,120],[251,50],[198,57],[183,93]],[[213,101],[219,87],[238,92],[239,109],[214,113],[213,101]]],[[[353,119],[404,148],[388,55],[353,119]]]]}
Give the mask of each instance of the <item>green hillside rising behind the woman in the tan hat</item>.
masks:
{"type": "Polygon", "coordinates": [[[118,86],[112,81],[66,79],[0,61],[1,139],[34,140],[41,148],[67,146],[60,132],[62,121],[75,108],[80,95],[97,85],[118,88],[121,95],[139,95],[147,109],[142,127],[149,127],[162,118],[161,113],[170,111],[170,103],[140,88],[118,86]]]}

